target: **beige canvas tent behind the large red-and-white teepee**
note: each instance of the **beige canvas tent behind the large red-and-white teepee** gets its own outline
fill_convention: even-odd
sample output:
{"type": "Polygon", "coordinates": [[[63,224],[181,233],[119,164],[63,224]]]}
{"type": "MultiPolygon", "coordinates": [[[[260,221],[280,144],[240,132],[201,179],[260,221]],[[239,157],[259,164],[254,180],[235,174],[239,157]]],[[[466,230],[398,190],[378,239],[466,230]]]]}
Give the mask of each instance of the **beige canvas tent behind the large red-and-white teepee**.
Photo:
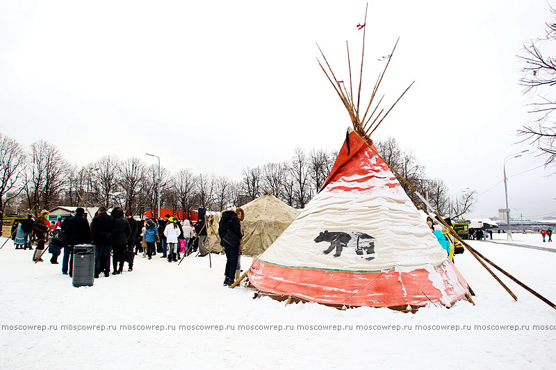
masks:
{"type": "Polygon", "coordinates": [[[290,226],[299,210],[271,194],[259,196],[243,205],[243,254],[256,257],[263,253],[290,226]]]}

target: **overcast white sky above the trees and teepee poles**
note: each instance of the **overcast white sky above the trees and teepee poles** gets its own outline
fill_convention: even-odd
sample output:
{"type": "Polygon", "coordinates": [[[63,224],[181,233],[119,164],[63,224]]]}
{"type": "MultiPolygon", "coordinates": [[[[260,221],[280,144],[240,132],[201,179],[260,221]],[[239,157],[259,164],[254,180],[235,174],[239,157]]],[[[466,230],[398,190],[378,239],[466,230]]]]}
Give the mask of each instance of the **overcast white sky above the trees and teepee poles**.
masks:
{"type": "MultiPolygon", "coordinates": [[[[76,165],[111,153],[156,160],[149,152],[170,171],[234,180],[295,146],[338,150],[350,120],[315,43],[347,81],[345,41],[357,65],[365,4],[2,1],[0,131],[56,144],[76,165]]],[[[385,101],[416,81],[376,138],[414,149],[452,194],[477,190],[473,217],[505,206],[502,162],[532,149],[515,144],[530,120],[516,54],[549,16],[544,0],[369,1],[363,93],[398,37],[385,101]]],[[[513,217],[556,216],[554,169],[542,164],[507,162],[513,217]]]]}

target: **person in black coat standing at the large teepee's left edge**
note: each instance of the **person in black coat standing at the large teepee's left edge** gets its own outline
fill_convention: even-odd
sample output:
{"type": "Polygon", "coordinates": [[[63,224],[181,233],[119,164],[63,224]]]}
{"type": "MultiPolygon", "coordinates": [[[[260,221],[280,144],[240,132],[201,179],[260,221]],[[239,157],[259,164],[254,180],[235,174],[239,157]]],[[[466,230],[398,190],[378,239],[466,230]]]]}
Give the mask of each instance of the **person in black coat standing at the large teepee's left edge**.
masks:
{"type": "Polygon", "coordinates": [[[238,264],[239,245],[241,242],[241,224],[236,214],[236,207],[228,204],[222,212],[220,223],[218,224],[218,235],[220,235],[220,245],[226,252],[226,270],[224,271],[224,286],[234,283],[236,276],[236,266],[238,264]],[[230,233],[230,235],[227,235],[230,233]]]}

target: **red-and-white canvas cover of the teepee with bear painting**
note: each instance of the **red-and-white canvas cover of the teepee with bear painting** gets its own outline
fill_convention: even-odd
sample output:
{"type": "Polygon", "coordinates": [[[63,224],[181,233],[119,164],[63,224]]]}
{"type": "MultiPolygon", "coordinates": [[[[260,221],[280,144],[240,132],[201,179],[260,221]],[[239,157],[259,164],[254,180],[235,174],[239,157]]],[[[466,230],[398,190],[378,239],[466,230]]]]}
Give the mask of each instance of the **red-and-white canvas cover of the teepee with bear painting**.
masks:
{"type": "Polygon", "coordinates": [[[388,166],[351,129],[322,190],[248,276],[261,292],[348,307],[450,305],[468,292],[388,166]]]}

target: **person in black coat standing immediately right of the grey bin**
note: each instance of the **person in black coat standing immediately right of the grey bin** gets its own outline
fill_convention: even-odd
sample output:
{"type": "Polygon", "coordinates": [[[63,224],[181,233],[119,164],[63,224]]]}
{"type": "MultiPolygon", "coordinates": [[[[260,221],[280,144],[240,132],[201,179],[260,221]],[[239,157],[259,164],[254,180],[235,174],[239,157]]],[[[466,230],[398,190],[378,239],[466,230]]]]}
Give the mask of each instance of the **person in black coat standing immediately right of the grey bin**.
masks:
{"type": "Polygon", "coordinates": [[[101,269],[104,276],[110,276],[110,251],[112,249],[112,235],[116,226],[114,217],[106,213],[106,207],[99,207],[99,214],[91,221],[92,242],[95,248],[95,278],[99,277],[101,269]]]}

